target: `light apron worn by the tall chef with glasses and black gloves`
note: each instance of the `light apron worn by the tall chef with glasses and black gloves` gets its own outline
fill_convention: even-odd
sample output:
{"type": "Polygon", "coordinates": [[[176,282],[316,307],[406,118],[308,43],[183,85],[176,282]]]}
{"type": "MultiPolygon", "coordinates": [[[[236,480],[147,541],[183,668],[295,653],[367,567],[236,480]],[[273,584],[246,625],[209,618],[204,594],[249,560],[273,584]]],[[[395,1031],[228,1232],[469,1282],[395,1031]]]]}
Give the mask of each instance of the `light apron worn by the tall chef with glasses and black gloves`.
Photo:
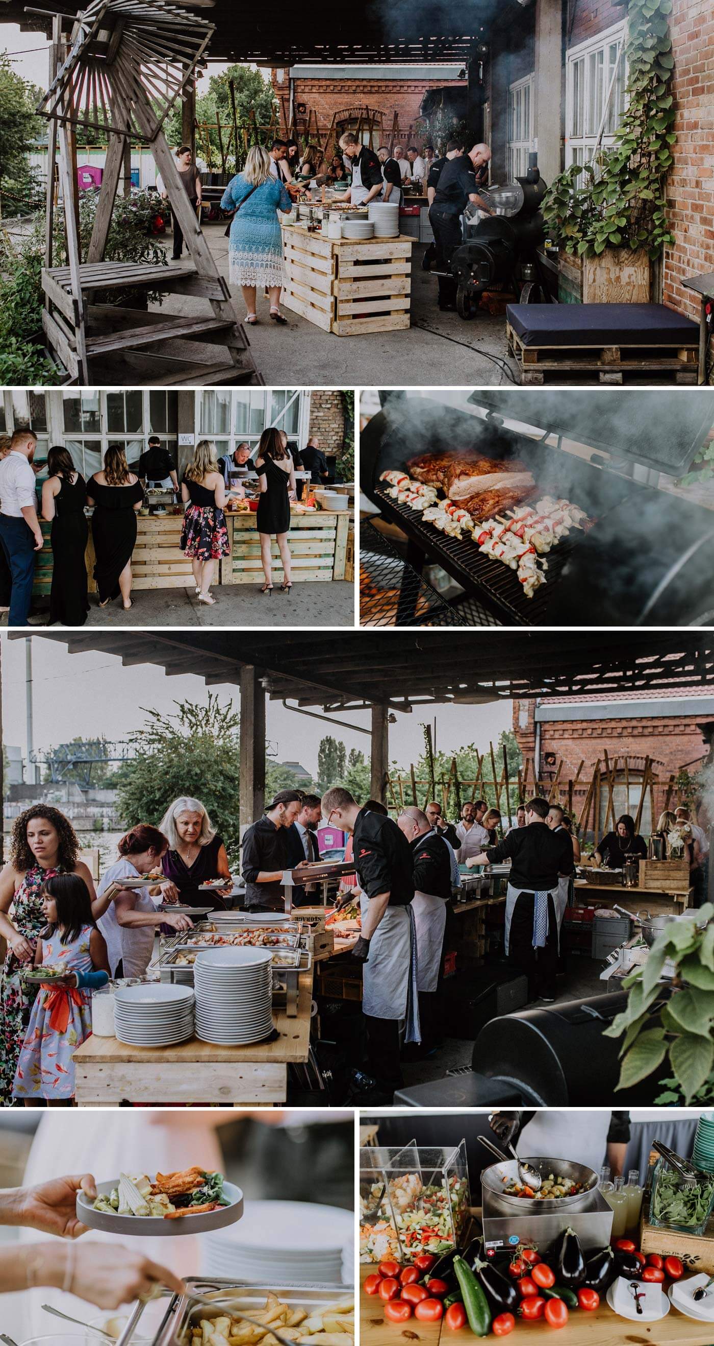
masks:
{"type": "MultiPolygon", "coordinates": [[[[360,898],[362,919],[368,898],[360,898]]],[[[406,1042],[420,1042],[417,1001],[417,938],[410,907],[387,906],[370,940],[362,966],[362,1012],[375,1019],[406,1020],[406,1042]]]]}

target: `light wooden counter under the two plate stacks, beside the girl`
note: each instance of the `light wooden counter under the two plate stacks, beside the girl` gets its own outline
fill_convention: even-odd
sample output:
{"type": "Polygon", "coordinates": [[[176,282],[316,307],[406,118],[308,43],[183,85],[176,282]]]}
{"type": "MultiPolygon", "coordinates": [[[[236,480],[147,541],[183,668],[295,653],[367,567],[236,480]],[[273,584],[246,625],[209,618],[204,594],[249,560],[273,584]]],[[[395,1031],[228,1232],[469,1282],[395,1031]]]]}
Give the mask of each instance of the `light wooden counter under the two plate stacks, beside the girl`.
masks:
{"type": "Polygon", "coordinates": [[[308,1059],[311,1005],[312,968],[300,973],[297,1018],[273,1010],[274,1042],[219,1047],[191,1038],[176,1047],[128,1047],[91,1035],[74,1053],[77,1104],[284,1104],[288,1066],[308,1059]]]}

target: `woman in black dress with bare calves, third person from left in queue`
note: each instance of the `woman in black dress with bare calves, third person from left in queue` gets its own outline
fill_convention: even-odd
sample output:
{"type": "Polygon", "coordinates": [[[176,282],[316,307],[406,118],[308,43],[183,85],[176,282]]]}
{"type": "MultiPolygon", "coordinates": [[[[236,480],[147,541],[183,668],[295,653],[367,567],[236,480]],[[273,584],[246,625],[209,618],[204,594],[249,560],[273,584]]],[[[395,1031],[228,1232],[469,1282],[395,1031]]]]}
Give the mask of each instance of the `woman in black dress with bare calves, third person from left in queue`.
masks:
{"type": "Polygon", "coordinates": [[[104,471],[87,482],[87,505],[94,506],[94,579],[100,590],[100,607],[118,598],[125,612],[132,607],[132,552],[136,545],[136,514],[144,490],[129,470],[126,455],[112,446],[104,455],[104,471]]]}

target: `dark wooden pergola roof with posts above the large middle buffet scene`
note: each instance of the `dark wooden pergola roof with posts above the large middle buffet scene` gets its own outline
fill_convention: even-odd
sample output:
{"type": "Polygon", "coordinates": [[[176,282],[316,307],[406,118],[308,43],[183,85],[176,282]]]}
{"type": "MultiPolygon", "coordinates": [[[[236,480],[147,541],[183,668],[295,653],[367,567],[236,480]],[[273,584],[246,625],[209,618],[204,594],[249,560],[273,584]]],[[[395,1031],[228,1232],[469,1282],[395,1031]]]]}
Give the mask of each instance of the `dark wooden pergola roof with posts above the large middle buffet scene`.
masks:
{"type": "Polygon", "coordinates": [[[433,704],[714,688],[714,633],[682,631],[38,631],[70,654],[195,673],[241,696],[241,824],[265,802],[266,699],[371,713],[371,793],[385,794],[389,719],[433,704]]]}

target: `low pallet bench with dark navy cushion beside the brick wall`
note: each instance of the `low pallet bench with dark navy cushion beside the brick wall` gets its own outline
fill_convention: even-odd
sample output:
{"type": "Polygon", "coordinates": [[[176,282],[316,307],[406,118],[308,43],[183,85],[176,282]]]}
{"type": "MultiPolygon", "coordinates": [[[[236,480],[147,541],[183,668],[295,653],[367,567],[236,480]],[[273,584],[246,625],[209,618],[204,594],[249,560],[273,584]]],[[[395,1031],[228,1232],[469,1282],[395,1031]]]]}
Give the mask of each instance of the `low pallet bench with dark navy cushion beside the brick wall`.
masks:
{"type": "Polygon", "coordinates": [[[662,304],[508,304],[508,353],[522,384],[695,384],[699,332],[662,304]]]}

